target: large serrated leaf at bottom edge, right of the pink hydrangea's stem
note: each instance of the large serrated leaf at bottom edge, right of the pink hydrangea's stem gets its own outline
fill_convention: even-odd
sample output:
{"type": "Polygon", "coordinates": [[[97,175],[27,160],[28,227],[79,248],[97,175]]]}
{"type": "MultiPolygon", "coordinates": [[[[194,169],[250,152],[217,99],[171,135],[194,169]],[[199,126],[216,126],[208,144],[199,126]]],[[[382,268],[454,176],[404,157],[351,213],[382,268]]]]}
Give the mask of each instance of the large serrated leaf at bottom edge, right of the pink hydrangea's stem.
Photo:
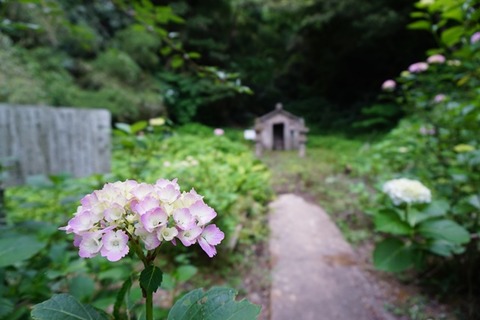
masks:
{"type": "Polygon", "coordinates": [[[257,319],[260,306],[247,300],[235,301],[236,292],[215,287],[207,292],[190,291],[178,300],[168,313],[167,320],[245,320],[257,319]]]}

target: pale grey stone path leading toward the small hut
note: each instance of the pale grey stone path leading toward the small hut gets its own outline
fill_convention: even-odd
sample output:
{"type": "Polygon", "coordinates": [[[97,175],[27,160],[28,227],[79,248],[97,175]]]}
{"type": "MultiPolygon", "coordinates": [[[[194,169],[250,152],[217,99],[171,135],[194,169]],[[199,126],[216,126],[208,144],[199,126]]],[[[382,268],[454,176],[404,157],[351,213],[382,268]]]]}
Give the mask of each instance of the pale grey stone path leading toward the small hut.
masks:
{"type": "Polygon", "coordinates": [[[270,205],[271,320],[383,320],[351,246],[318,206],[293,194],[270,205]]]}

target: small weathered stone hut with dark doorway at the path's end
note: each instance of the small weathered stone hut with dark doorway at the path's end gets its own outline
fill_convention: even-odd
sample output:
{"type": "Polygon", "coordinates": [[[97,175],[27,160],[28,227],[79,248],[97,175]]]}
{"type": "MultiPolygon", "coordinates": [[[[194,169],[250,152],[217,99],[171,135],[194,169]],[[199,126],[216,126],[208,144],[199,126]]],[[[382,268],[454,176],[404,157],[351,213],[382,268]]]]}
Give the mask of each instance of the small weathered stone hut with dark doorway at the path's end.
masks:
{"type": "Polygon", "coordinates": [[[260,157],[263,150],[298,150],[300,157],[305,156],[307,142],[303,118],[283,110],[277,103],[275,110],[255,120],[256,154],[260,157]]]}

